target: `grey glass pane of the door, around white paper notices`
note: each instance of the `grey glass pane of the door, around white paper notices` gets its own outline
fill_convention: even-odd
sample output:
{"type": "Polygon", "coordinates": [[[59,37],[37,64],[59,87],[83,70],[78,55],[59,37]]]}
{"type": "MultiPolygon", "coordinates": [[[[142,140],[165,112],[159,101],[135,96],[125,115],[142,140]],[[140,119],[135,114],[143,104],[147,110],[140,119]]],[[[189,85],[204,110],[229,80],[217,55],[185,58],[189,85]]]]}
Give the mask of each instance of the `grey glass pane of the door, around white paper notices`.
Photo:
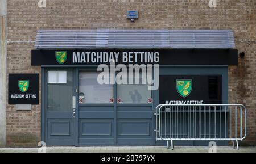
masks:
{"type": "Polygon", "coordinates": [[[73,72],[67,71],[67,83],[47,85],[47,107],[49,111],[72,111],[73,72]]]}

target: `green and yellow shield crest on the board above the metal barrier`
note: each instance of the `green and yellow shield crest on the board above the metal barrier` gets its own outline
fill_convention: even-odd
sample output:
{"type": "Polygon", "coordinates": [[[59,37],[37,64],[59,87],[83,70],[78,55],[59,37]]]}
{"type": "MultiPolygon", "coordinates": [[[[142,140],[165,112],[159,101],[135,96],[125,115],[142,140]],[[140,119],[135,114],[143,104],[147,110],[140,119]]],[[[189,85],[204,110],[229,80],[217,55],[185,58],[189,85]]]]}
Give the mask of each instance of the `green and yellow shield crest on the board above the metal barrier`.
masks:
{"type": "Polygon", "coordinates": [[[176,80],[177,92],[183,98],[187,97],[192,90],[192,80],[187,79],[177,79],[176,80]]]}

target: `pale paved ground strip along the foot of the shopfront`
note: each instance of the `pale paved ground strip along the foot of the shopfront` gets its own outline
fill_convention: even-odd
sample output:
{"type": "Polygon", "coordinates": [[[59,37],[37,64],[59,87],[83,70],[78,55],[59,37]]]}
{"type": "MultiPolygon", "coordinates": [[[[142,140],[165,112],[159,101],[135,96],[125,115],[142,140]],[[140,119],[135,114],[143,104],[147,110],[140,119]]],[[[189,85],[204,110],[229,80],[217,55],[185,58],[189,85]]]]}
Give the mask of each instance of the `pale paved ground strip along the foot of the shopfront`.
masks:
{"type": "MultiPolygon", "coordinates": [[[[217,153],[256,153],[256,147],[243,147],[239,150],[232,146],[217,146],[217,153]]],[[[0,153],[37,153],[38,148],[0,148],[0,153]]],[[[48,146],[47,153],[208,153],[208,146],[175,146],[174,150],[166,146],[88,146],[64,147],[48,146]]]]}

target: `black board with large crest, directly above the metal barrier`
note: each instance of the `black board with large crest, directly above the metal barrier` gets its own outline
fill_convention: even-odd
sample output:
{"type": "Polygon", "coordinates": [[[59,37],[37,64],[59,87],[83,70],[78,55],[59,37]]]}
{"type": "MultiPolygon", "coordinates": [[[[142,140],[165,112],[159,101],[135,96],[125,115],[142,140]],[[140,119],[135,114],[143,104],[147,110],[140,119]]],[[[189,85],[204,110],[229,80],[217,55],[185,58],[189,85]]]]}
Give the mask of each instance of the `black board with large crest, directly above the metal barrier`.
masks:
{"type": "Polygon", "coordinates": [[[159,75],[160,104],[222,104],[221,75],[159,75]]]}

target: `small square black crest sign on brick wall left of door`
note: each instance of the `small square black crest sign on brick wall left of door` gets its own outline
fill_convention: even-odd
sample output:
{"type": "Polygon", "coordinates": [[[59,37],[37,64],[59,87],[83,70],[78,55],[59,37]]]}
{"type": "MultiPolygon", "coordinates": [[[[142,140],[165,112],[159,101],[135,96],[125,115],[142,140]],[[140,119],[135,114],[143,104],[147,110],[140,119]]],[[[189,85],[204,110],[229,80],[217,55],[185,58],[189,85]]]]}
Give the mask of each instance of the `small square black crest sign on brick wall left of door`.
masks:
{"type": "Polygon", "coordinates": [[[9,74],[9,104],[39,104],[39,74],[9,74]]]}

